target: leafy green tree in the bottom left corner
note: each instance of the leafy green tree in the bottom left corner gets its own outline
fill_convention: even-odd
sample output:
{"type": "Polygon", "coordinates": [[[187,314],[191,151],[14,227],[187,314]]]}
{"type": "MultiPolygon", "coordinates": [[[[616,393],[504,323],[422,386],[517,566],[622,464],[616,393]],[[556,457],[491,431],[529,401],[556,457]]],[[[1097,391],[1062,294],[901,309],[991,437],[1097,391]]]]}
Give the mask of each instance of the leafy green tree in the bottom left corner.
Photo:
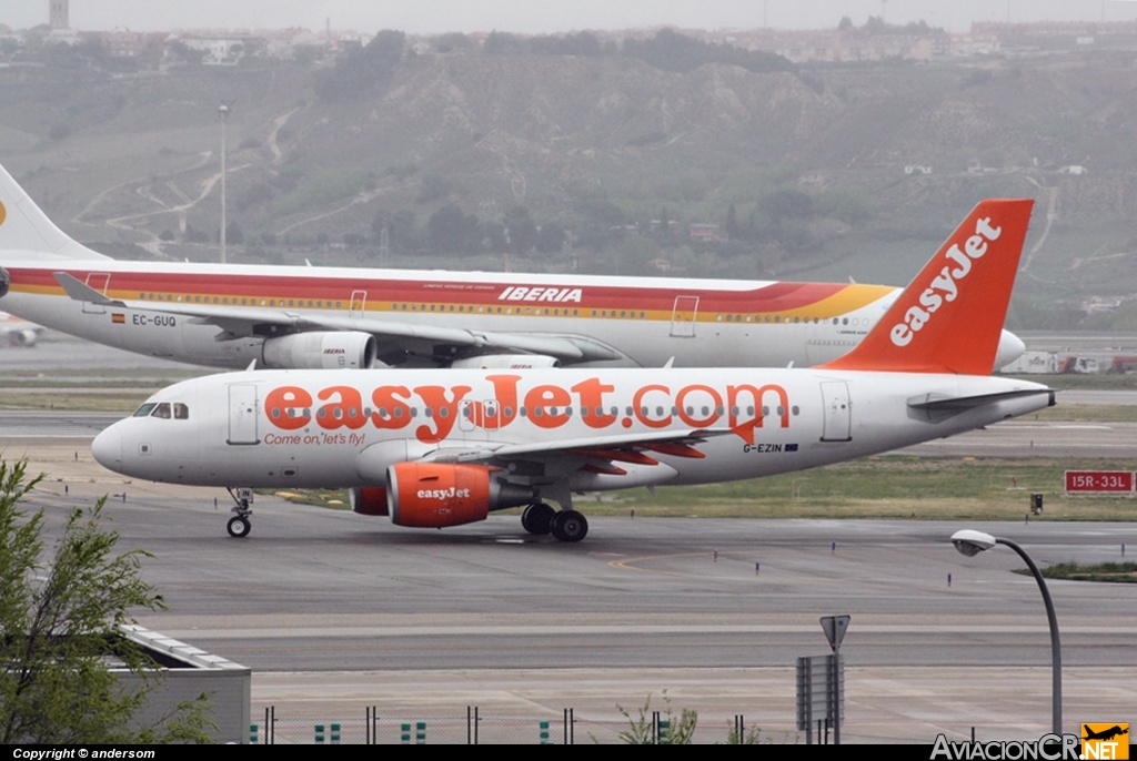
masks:
{"type": "Polygon", "coordinates": [[[148,553],[115,553],[103,499],[73,510],[45,557],[43,513],[17,508],[42,479],[25,470],[26,462],[0,461],[0,743],[209,742],[205,695],[160,726],[132,722],[160,675],[118,628],[133,622],[133,609],[166,607],[139,576],[148,553]],[[147,686],[124,689],[108,654],[147,686]]]}

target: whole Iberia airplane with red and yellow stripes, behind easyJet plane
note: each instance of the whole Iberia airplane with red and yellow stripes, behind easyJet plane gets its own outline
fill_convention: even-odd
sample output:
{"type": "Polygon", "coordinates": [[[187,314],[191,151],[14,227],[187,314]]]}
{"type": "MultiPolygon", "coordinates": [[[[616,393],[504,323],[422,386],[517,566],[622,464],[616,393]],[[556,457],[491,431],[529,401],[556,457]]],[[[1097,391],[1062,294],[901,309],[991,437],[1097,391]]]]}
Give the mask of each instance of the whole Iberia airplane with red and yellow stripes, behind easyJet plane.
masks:
{"type": "MultiPolygon", "coordinates": [[[[284,369],[786,367],[835,359],[882,285],[115,261],[0,167],[0,308],[155,357],[284,369]],[[5,295],[6,294],[6,295],[5,295]]],[[[999,367],[1024,346],[1003,334],[999,367]]]]}

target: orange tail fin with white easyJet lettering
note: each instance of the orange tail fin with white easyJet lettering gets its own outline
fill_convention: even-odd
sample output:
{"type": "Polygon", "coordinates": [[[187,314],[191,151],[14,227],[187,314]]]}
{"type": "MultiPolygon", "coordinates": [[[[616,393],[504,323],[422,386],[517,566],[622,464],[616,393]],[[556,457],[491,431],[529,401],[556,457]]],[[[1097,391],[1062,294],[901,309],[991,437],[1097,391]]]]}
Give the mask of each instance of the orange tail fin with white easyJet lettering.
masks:
{"type": "Polygon", "coordinates": [[[833,370],[990,375],[1034,206],[977,206],[833,370]]]}

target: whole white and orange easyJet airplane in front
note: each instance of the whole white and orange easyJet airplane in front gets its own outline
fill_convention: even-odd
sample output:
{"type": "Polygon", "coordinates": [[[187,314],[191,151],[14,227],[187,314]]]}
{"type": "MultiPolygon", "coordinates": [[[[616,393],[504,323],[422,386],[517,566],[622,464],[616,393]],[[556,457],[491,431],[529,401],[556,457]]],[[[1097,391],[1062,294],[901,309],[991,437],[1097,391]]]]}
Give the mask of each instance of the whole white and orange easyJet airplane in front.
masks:
{"type": "MultiPolygon", "coordinates": [[[[135,478],[346,486],[357,512],[399,526],[528,505],[525,530],[576,542],[574,493],[800,470],[1053,404],[989,375],[1031,206],[980,203],[865,340],[820,367],[250,370],[165,388],[92,449],[135,478]]],[[[248,502],[234,512],[244,536],[248,502]]]]}

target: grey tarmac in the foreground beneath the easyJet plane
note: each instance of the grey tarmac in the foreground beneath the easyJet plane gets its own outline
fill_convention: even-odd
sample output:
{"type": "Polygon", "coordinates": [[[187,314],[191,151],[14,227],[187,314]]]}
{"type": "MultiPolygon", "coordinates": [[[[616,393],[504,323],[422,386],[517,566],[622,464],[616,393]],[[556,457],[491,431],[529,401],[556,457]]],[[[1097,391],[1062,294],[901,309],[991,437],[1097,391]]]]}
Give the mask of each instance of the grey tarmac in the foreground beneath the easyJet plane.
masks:
{"type": "MultiPolygon", "coordinates": [[[[252,667],[254,716],[478,705],[557,719],[573,708],[611,731],[617,703],[666,689],[707,721],[745,713],[789,731],[795,659],[827,651],[820,616],[849,613],[846,742],[1048,727],[1038,589],[1010,572],[1021,563],[1009,551],[957,554],[947,537],[958,525],[596,518],[583,543],[564,545],[508,516],[416,532],[258,496],[252,534],[236,541],[225,503],[214,509],[224,493],[124,482],[85,451],[76,462],[73,444],[2,442],[50,474],[31,507],[55,527],[66,508],[111,495],[123,546],[155,554],[144,576],[171,605],[140,621],[252,667]]],[[[1137,545],[1132,524],[978,527],[1043,565],[1120,560],[1137,545]]],[[[1052,593],[1069,727],[1130,720],[1137,587],[1056,582],[1052,593]]]]}

